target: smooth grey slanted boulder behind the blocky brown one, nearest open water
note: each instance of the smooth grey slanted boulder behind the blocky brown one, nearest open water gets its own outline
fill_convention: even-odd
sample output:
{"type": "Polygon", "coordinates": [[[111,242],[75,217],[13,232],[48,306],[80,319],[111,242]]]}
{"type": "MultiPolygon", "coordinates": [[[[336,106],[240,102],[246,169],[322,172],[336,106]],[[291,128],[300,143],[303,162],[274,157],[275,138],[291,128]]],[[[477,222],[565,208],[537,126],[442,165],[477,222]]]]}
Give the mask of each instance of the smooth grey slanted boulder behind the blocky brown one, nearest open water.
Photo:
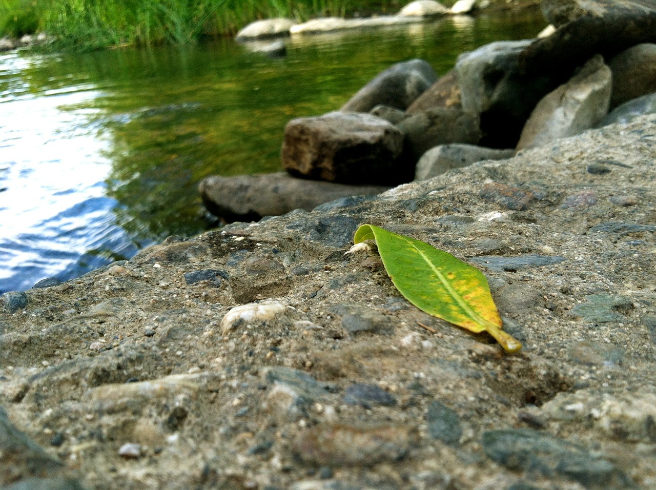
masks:
{"type": "Polygon", "coordinates": [[[435,83],[438,75],[424,60],[398,63],[371,80],[342,106],[342,112],[369,112],[380,104],[405,110],[435,83]]]}

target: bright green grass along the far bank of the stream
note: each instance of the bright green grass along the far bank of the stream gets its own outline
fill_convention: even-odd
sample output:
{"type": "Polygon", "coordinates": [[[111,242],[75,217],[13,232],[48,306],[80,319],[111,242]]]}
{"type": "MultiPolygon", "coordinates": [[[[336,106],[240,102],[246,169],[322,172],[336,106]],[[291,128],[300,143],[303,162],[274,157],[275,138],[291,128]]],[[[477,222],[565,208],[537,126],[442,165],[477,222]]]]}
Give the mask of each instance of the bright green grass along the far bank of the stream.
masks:
{"type": "Polygon", "coordinates": [[[0,0],[0,35],[47,31],[63,47],[193,43],[255,20],[396,12],[403,0],[0,0]]]}

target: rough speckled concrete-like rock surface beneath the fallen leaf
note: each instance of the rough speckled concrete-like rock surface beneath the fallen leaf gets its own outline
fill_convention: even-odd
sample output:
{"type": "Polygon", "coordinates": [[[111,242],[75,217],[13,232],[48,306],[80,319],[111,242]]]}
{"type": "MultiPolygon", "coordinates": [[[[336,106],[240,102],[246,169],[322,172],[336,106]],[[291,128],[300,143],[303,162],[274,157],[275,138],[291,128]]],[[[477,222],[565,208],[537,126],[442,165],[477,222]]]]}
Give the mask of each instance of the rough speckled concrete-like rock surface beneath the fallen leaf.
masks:
{"type": "Polygon", "coordinates": [[[652,489],[655,161],[639,117],[26,291],[0,311],[0,485],[652,489]],[[345,255],[362,223],[476,264],[523,349],[345,255]]]}

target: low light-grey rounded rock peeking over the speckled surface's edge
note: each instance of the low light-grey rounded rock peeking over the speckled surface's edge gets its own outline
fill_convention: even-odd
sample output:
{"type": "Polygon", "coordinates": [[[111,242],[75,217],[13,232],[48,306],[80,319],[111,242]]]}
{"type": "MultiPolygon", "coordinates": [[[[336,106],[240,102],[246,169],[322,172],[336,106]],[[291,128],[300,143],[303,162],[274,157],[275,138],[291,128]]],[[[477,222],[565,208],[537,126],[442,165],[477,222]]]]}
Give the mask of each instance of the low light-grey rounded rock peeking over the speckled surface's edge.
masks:
{"type": "Polygon", "coordinates": [[[415,180],[427,180],[481,160],[510,158],[514,153],[515,150],[495,150],[470,144],[443,144],[422,155],[415,168],[415,180]]]}

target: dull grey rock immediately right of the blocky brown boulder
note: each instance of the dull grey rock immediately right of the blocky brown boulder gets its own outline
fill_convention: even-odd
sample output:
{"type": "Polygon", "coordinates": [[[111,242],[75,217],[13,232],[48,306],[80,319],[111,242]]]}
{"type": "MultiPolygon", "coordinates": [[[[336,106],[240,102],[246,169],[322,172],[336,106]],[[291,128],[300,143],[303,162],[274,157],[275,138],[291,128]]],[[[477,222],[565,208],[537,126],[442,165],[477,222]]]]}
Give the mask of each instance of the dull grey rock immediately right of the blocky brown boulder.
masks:
{"type": "Polygon", "coordinates": [[[403,152],[414,161],[440,144],[476,144],[482,136],[478,115],[459,109],[427,109],[403,119],[396,127],[405,134],[403,152]]]}

